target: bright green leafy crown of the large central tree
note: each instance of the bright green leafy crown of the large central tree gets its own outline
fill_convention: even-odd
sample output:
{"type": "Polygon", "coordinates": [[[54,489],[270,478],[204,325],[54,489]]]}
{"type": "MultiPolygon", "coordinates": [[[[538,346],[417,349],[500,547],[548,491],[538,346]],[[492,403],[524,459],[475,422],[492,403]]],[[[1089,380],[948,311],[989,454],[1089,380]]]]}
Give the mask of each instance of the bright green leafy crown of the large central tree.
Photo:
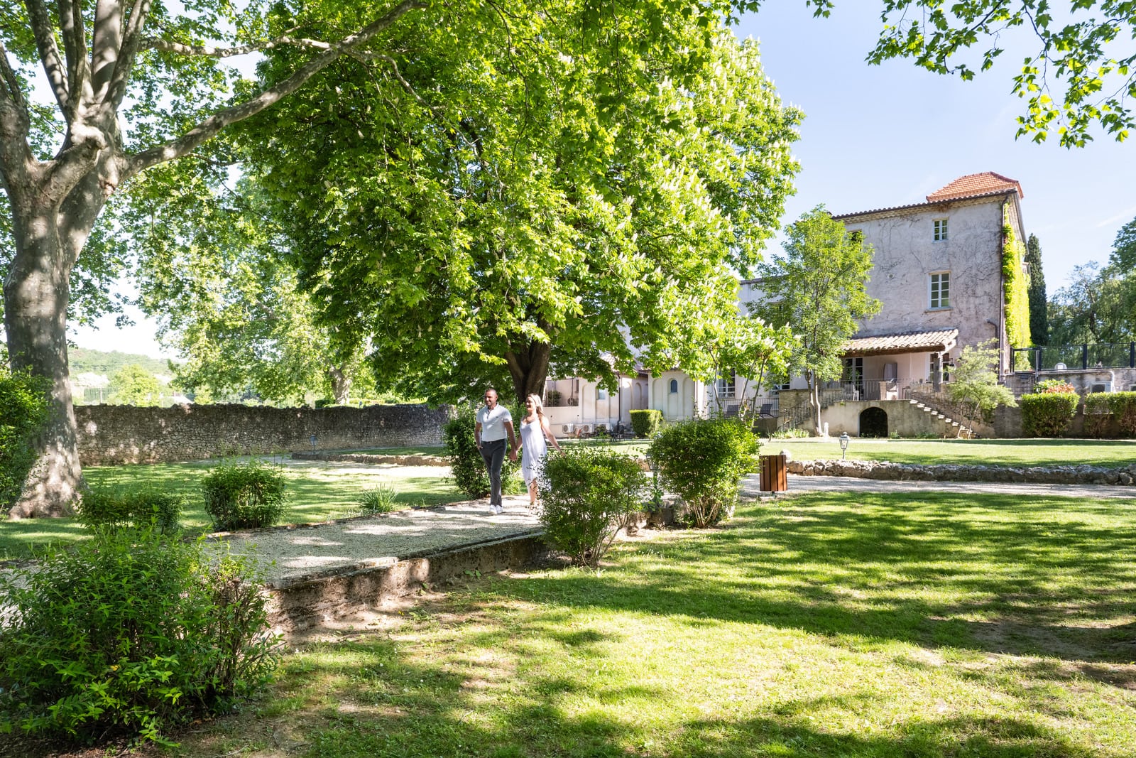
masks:
{"type": "Polygon", "coordinates": [[[345,59],[239,134],[319,322],[369,344],[385,388],[523,398],[550,370],[662,365],[736,308],[776,228],[800,113],[755,43],[562,10],[510,15],[504,60],[493,15],[410,22],[396,73],[345,59]]]}

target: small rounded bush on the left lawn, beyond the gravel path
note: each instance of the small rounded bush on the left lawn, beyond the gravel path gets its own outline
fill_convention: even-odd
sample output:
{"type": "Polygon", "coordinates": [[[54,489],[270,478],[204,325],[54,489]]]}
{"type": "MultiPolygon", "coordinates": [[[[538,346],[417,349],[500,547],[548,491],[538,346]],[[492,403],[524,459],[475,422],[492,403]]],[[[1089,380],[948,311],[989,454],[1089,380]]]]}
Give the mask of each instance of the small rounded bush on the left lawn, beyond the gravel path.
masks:
{"type": "Polygon", "coordinates": [[[206,513],[225,532],[276,524],[284,514],[285,486],[279,468],[256,459],[223,464],[201,480],[206,513]]]}

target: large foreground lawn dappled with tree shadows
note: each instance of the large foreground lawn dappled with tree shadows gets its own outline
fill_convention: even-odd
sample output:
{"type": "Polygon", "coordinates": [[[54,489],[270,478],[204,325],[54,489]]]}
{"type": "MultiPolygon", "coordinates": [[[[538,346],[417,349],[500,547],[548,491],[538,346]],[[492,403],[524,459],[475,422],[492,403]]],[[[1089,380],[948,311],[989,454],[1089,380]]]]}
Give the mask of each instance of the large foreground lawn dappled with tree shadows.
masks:
{"type": "MultiPolygon", "coordinates": [[[[290,650],[186,758],[1121,757],[1136,514],[811,494],[290,650]]],[[[154,750],[154,753],[159,752],[154,750]]]]}

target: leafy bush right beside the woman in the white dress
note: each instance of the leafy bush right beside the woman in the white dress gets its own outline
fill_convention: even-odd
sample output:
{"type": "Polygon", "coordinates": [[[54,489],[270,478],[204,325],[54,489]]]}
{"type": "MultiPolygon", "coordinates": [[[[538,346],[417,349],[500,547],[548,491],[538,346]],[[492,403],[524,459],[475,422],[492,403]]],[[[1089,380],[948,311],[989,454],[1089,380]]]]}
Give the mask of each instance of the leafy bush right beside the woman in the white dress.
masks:
{"type": "Polygon", "coordinates": [[[550,451],[541,473],[544,536],[594,568],[624,517],[642,509],[646,486],[638,460],[625,453],[591,445],[550,451]]]}

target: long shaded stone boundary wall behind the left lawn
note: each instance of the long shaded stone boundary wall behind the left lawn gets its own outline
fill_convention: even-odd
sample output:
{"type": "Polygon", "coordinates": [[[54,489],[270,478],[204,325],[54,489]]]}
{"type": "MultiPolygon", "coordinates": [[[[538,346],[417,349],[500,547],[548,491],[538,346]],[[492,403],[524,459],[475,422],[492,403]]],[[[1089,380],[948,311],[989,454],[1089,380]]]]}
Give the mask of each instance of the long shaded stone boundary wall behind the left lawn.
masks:
{"type": "Polygon", "coordinates": [[[266,408],[76,406],[84,466],[201,460],[227,455],[440,445],[445,407],[266,408]]]}

